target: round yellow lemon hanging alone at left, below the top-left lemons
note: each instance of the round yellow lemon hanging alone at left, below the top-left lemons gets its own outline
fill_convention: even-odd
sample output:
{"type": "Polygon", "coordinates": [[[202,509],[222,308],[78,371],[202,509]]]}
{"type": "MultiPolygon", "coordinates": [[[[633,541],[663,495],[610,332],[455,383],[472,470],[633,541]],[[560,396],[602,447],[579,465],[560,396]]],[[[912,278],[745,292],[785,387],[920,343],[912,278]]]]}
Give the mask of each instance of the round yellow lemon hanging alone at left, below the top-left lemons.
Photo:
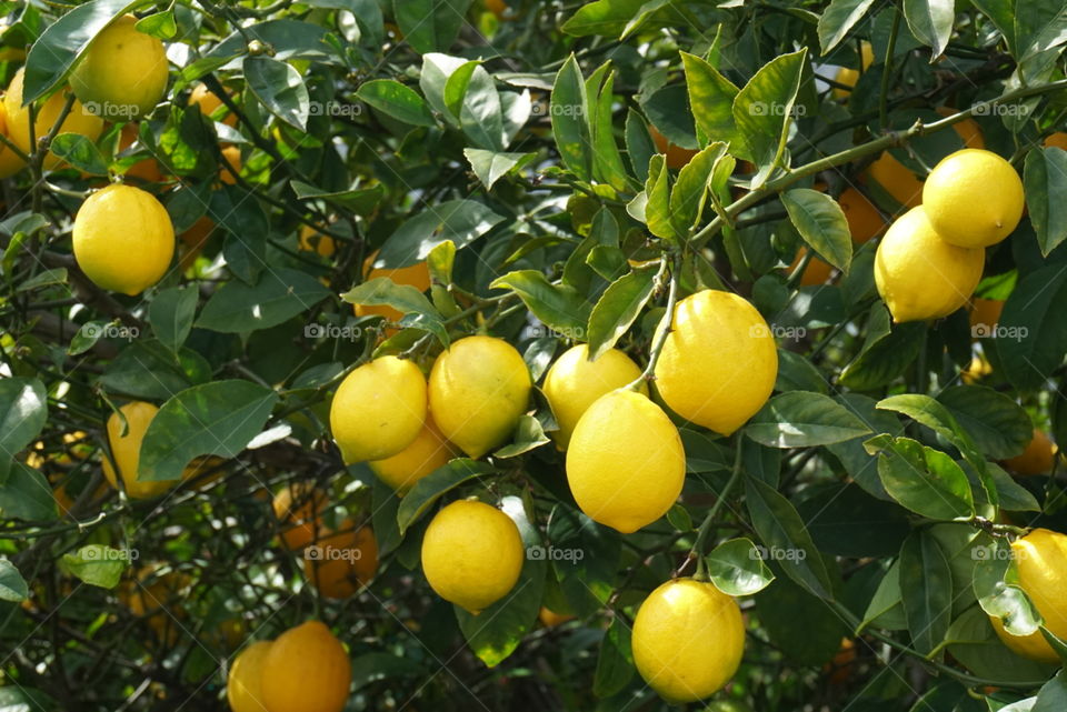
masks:
{"type": "Polygon", "coordinates": [[[81,204],[73,243],[78,267],[97,287],[133,297],[167,273],[174,227],[154,195],[113,183],[81,204]]]}

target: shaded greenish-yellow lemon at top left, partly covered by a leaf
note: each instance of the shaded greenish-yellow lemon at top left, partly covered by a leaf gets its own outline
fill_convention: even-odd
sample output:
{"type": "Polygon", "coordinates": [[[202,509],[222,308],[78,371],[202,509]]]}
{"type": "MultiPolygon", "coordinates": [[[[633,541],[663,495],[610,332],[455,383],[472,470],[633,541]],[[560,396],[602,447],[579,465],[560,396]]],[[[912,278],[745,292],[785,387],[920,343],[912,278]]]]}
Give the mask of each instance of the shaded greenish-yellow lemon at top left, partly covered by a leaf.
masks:
{"type": "Polygon", "coordinates": [[[92,113],[131,120],[151,112],[167,92],[167,50],[124,14],[93,38],[70,74],[74,94],[92,113]]]}

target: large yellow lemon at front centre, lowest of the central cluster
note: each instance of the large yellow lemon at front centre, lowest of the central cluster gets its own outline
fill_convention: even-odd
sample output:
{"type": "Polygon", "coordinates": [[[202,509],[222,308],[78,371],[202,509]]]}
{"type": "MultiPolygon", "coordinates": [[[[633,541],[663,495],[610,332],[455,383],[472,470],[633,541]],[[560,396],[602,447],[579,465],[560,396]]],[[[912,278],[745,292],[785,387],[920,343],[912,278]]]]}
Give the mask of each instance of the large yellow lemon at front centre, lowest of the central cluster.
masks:
{"type": "Polygon", "coordinates": [[[678,429],[634,391],[614,391],[590,405],[567,450],[567,481],[578,507],[624,534],[666,514],[685,478],[678,429]]]}

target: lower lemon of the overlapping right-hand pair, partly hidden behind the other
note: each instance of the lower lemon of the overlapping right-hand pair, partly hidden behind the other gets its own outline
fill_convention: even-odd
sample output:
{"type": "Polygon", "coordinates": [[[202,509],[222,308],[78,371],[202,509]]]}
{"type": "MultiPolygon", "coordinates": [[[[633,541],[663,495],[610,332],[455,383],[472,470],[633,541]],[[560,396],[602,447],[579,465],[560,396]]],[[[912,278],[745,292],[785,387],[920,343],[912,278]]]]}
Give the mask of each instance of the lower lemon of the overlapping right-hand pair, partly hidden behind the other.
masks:
{"type": "Polygon", "coordinates": [[[875,254],[875,284],[896,322],[947,317],[970,299],[986,253],[949,244],[925,207],[898,218],[875,254]]]}

